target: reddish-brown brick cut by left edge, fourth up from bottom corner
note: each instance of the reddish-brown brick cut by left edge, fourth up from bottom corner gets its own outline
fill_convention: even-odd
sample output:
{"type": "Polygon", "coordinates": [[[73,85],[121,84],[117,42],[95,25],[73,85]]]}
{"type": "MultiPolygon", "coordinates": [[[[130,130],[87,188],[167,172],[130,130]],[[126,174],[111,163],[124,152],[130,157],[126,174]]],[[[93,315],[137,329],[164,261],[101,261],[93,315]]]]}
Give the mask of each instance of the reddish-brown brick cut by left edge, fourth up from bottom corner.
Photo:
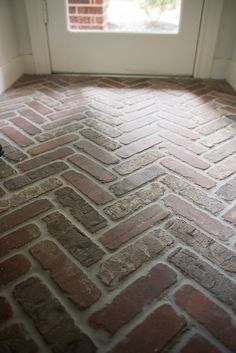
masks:
{"type": "Polygon", "coordinates": [[[19,249],[36,239],[40,235],[39,228],[34,224],[26,226],[7,234],[0,239],[0,256],[7,255],[12,250],[19,249]]]}

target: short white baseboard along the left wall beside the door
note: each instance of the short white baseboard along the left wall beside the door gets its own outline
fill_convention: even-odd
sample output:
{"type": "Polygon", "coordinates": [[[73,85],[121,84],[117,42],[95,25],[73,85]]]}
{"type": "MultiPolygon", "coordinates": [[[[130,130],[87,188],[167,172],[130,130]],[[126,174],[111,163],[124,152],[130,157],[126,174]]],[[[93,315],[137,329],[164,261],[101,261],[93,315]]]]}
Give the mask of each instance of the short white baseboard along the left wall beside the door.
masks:
{"type": "Polygon", "coordinates": [[[21,56],[0,67],[0,93],[9,88],[24,73],[21,56]]]}

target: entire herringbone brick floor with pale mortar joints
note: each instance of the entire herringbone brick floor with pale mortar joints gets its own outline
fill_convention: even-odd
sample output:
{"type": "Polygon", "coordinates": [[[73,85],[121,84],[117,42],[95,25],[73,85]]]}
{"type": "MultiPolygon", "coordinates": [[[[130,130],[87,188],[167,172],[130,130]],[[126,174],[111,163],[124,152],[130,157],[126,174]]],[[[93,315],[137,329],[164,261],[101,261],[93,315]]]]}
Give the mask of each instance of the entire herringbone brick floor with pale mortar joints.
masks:
{"type": "Polygon", "coordinates": [[[0,352],[236,352],[236,94],[25,76],[0,96],[0,352]]]}

